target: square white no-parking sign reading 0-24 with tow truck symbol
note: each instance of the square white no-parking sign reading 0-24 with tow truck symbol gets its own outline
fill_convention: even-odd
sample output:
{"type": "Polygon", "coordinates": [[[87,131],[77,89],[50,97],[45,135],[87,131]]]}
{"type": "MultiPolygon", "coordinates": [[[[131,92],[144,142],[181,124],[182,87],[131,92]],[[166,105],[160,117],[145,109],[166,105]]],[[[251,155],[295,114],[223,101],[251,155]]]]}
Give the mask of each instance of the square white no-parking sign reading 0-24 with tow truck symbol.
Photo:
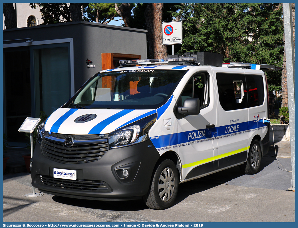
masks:
{"type": "Polygon", "coordinates": [[[182,44],[182,21],[162,23],[162,44],[182,44]]]}

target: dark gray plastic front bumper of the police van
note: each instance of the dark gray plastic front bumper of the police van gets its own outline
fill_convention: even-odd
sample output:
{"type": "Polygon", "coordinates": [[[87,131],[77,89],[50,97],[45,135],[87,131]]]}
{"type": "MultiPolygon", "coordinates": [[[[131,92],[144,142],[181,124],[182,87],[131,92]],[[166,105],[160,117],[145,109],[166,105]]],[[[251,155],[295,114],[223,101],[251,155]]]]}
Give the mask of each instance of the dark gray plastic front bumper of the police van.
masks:
{"type": "Polygon", "coordinates": [[[53,161],[36,144],[32,158],[32,186],[39,191],[81,199],[129,200],[145,195],[160,155],[151,140],[108,150],[102,158],[79,164],[53,161]],[[151,145],[151,147],[148,147],[151,145]],[[77,180],[53,178],[53,169],[77,170],[77,180]],[[121,170],[129,171],[128,177],[121,170]],[[120,170],[120,171],[119,171],[120,170]]]}

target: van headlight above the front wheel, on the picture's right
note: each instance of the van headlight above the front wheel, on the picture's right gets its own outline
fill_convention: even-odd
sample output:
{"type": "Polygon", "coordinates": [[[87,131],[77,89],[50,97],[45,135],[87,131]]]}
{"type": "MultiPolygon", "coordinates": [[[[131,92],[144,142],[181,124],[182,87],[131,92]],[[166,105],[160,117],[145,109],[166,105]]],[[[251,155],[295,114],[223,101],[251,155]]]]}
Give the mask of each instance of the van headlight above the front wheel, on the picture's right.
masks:
{"type": "Polygon", "coordinates": [[[109,148],[123,147],[148,140],[148,131],[155,121],[156,113],[110,133],[109,148]]]}

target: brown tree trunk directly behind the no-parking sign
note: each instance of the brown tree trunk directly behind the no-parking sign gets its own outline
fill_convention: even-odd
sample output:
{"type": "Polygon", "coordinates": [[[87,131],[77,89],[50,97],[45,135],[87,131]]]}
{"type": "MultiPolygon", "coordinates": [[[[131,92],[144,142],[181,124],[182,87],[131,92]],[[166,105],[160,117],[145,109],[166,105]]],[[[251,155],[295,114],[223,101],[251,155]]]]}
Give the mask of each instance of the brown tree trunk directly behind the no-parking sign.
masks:
{"type": "Polygon", "coordinates": [[[145,11],[150,58],[167,58],[167,49],[162,45],[163,5],[163,3],[148,3],[145,11]]]}

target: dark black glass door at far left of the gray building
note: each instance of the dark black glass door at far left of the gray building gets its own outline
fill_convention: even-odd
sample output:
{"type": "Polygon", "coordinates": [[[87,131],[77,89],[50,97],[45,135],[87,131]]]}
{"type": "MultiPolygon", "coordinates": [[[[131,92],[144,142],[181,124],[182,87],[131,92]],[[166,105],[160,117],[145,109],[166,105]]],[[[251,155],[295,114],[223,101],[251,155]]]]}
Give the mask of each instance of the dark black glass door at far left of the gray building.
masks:
{"type": "Polygon", "coordinates": [[[18,132],[26,117],[31,116],[30,53],[10,49],[3,53],[4,129],[10,146],[24,147],[24,133],[18,132]]]}

